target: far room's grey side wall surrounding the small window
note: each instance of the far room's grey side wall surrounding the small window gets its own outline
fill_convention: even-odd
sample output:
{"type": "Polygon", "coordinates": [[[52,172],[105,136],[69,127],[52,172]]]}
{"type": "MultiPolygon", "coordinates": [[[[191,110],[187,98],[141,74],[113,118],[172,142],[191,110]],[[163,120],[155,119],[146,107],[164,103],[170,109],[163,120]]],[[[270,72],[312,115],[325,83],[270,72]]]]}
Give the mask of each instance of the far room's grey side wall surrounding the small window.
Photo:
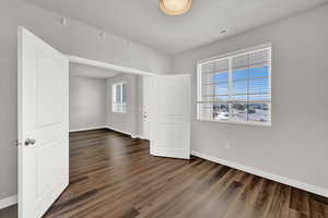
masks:
{"type": "Polygon", "coordinates": [[[119,74],[107,78],[107,126],[130,135],[140,133],[140,104],[142,102],[141,76],[133,74],[119,74]],[[127,112],[117,113],[112,110],[112,86],[125,82],[127,87],[127,112]]]}

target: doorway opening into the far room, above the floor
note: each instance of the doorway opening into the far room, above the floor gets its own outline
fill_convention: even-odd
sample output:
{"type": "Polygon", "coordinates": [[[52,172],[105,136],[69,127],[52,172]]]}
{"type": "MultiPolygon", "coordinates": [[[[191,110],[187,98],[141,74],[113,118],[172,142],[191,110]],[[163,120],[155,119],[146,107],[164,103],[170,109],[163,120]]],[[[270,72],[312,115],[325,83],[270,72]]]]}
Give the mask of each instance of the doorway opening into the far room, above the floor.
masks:
{"type": "Polygon", "coordinates": [[[105,128],[150,140],[150,81],[153,74],[68,57],[70,132],[105,128]]]}

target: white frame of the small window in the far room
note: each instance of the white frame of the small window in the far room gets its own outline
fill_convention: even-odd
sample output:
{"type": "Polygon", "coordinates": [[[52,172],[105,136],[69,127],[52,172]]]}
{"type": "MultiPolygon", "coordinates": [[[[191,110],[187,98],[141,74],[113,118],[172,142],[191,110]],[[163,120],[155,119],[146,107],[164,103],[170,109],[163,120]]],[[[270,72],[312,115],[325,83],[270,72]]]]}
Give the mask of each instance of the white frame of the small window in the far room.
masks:
{"type": "Polygon", "coordinates": [[[127,99],[125,99],[126,101],[124,102],[124,87],[125,87],[125,95],[127,93],[127,83],[126,82],[118,82],[118,83],[113,83],[112,84],[112,112],[115,113],[127,113],[127,99]],[[116,93],[116,88],[117,86],[119,86],[120,89],[120,101],[117,102],[116,98],[117,98],[117,93],[116,93]],[[117,105],[119,105],[119,107],[116,107],[117,105]],[[120,109],[118,109],[120,108],[120,109]]]}

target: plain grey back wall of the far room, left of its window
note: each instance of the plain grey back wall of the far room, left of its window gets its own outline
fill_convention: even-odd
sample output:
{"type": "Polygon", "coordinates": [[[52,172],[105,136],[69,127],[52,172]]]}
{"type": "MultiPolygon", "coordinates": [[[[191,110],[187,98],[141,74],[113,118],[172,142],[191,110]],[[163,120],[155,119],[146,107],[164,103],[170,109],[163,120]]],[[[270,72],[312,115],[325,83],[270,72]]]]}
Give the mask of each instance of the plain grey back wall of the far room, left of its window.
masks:
{"type": "Polygon", "coordinates": [[[70,76],[70,131],[106,125],[106,80],[70,76]]]}

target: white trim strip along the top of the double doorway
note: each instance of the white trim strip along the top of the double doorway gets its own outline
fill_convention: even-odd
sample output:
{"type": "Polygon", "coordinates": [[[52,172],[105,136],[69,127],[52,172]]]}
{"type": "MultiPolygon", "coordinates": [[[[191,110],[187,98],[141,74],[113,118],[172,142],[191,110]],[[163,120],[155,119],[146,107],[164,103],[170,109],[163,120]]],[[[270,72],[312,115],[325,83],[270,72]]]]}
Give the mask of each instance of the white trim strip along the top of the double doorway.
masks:
{"type": "Polygon", "coordinates": [[[106,62],[102,62],[102,61],[95,61],[95,60],[91,60],[91,59],[80,58],[77,56],[70,56],[70,55],[66,55],[66,56],[68,57],[69,61],[72,63],[82,63],[82,64],[93,65],[93,66],[97,66],[97,68],[102,68],[102,69],[119,71],[119,72],[124,72],[124,73],[145,75],[145,76],[154,75],[154,73],[152,73],[152,72],[140,71],[140,70],[136,70],[136,69],[131,69],[131,68],[127,68],[127,66],[116,65],[113,63],[106,63],[106,62]]]}

